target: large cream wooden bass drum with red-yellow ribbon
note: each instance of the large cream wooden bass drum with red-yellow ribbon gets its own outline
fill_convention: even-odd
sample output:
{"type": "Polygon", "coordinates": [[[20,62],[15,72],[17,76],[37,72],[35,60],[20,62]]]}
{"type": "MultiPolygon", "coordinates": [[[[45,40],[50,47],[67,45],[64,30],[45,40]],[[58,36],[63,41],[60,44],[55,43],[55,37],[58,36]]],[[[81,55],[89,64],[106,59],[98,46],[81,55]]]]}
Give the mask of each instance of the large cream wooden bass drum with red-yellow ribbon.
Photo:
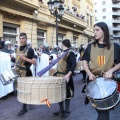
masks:
{"type": "Polygon", "coordinates": [[[44,100],[58,103],[66,99],[66,82],[63,77],[21,77],[17,97],[26,104],[46,104],[44,100]]]}

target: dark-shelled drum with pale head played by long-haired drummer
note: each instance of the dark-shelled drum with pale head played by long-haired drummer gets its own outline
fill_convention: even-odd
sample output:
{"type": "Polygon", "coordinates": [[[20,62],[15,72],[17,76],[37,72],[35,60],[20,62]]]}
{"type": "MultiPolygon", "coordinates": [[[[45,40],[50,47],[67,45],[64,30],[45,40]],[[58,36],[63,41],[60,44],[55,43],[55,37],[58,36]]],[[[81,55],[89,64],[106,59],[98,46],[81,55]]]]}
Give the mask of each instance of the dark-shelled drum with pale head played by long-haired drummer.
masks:
{"type": "Polygon", "coordinates": [[[108,110],[119,102],[117,83],[103,77],[90,82],[86,87],[86,94],[93,107],[99,110],[108,110]]]}

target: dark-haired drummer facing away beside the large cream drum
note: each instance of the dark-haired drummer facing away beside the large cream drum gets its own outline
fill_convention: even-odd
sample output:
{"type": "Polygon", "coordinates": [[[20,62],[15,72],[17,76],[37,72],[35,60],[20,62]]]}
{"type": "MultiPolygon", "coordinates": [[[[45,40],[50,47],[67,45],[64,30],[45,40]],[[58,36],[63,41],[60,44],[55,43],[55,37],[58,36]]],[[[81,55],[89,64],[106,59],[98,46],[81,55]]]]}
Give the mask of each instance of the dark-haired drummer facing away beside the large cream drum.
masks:
{"type": "MultiPolygon", "coordinates": [[[[60,69],[57,70],[56,76],[64,76],[64,78],[67,80],[66,84],[66,100],[59,103],[60,110],[53,113],[54,115],[58,116],[61,115],[62,118],[67,118],[70,114],[69,107],[70,107],[70,99],[74,96],[74,83],[73,83],[73,72],[76,67],[76,58],[73,51],[70,50],[71,44],[68,39],[65,39],[62,41],[62,50],[64,52],[68,52],[68,54],[65,56],[65,61],[67,63],[66,66],[63,66],[62,62],[58,62],[58,65],[61,67],[66,67],[66,73],[63,73],[60,69]],[[64,102],[65,102],[65,109],[64,109],[64,102]]],[[[65,62],[63,61],[63,62],[65,62]]]]}

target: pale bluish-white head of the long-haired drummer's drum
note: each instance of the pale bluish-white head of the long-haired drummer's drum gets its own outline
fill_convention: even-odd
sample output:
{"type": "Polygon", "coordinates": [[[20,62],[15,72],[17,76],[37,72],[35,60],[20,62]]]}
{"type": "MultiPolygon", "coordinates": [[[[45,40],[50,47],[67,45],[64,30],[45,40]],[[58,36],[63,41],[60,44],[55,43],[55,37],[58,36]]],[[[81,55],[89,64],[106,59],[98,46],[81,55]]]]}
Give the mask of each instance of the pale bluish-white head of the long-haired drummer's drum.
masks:
{"type": "Polygon", "coordinates": [[[88,97],[93,99],[104,99],[112,95],[116,87],[117,84],[114,80],[100,77],[87,85],[86,93],[88,97]]]}

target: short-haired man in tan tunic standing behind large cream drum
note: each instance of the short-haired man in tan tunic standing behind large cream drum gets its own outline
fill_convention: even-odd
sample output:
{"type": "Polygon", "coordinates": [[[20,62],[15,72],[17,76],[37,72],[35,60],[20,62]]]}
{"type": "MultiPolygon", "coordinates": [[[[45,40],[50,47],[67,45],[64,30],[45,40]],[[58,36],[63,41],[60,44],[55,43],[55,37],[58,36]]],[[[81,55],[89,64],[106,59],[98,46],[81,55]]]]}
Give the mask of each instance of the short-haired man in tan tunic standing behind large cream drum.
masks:
{"type": "MultiPolygon", "coordinates": [[[[27,46],[26,33],[21,33],[20,47],[17,48],[16,53],[16,71],[20,75],[20,77],[32,76],[32,72],[30,70],[31,64],[36,64],[34,50],[31,47],[27,46]]],[[[23,104],[22,109],[17,115],[21,116],[26,112],[26,104],[23,104]]]]}

